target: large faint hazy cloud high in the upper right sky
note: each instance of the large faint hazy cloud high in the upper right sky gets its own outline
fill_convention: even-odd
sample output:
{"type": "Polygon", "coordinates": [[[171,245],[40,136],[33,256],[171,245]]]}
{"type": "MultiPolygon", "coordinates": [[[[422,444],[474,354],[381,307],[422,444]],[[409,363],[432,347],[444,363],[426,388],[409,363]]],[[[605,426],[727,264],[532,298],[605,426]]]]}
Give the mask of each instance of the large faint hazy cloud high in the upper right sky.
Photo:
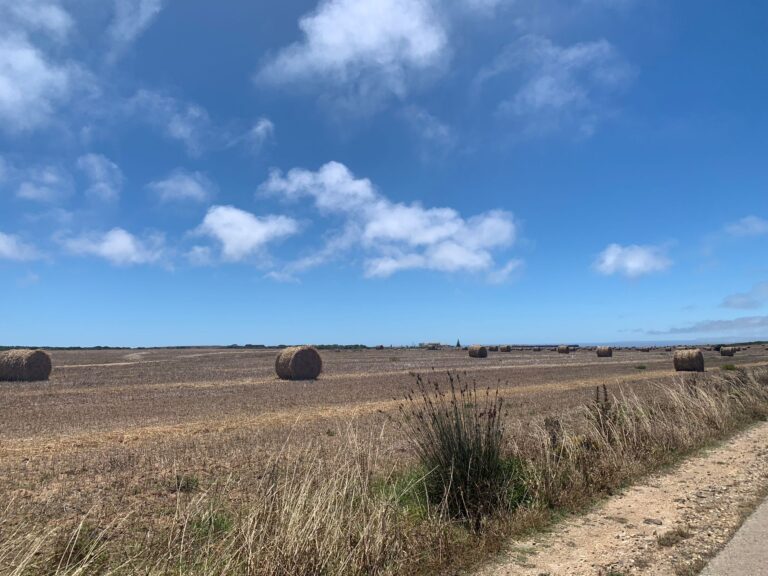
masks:
{"type": "Polygon", "coordinates": [[[610,109],[610,97],[634,77],[606,40],[563,47],[536,35],[509,45],[480,72],[477,83],[508,73],[518,75],[518,87],[500,104],[504,114],[523,121],[529,132],[575,126],[583,135],[594,132],[610,109]]]}

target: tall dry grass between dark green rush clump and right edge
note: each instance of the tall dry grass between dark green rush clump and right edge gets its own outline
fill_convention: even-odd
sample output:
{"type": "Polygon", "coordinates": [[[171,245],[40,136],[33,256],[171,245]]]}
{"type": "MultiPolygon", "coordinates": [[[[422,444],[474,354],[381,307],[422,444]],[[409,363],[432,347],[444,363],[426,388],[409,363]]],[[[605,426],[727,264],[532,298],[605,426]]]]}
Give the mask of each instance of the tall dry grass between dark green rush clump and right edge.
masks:
{"type": "Polygon", "coordinates": [[[538,505],[578,507],[766,415],[766,369],[689,374],[643,397],[598,388],[577,414],[515,430],[513,452],[538,505]]]}

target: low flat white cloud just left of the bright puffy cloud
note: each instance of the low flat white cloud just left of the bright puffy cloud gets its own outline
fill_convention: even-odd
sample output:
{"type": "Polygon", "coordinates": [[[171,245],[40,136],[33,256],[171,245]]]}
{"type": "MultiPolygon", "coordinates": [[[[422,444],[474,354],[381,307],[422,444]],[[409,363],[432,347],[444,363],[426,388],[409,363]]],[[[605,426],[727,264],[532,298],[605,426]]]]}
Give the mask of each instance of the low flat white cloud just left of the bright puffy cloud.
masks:
{"type": "Polygon", "coordinates": [[[164,241],[160,235],[140,239],[123,230],[113,228],[106,233],[92,233],[63,240],[64,248],[72,254],[97,256],[112,264],[151,264],[163,256],[164,241]]]}

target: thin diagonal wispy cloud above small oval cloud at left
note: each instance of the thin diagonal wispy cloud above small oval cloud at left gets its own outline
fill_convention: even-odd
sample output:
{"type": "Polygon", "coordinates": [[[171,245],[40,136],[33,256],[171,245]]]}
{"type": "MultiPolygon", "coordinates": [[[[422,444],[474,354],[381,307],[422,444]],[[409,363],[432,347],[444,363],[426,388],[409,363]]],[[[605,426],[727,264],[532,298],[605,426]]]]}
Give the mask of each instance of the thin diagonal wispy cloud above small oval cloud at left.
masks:
{"type": "Polygon", "coordinates": [[[128,102],[128,111],[161,128],[168,138],[181,142],[191,156],[200,155],[218,139],[208,112],[196,104],[139,90],[128,102]]]}

